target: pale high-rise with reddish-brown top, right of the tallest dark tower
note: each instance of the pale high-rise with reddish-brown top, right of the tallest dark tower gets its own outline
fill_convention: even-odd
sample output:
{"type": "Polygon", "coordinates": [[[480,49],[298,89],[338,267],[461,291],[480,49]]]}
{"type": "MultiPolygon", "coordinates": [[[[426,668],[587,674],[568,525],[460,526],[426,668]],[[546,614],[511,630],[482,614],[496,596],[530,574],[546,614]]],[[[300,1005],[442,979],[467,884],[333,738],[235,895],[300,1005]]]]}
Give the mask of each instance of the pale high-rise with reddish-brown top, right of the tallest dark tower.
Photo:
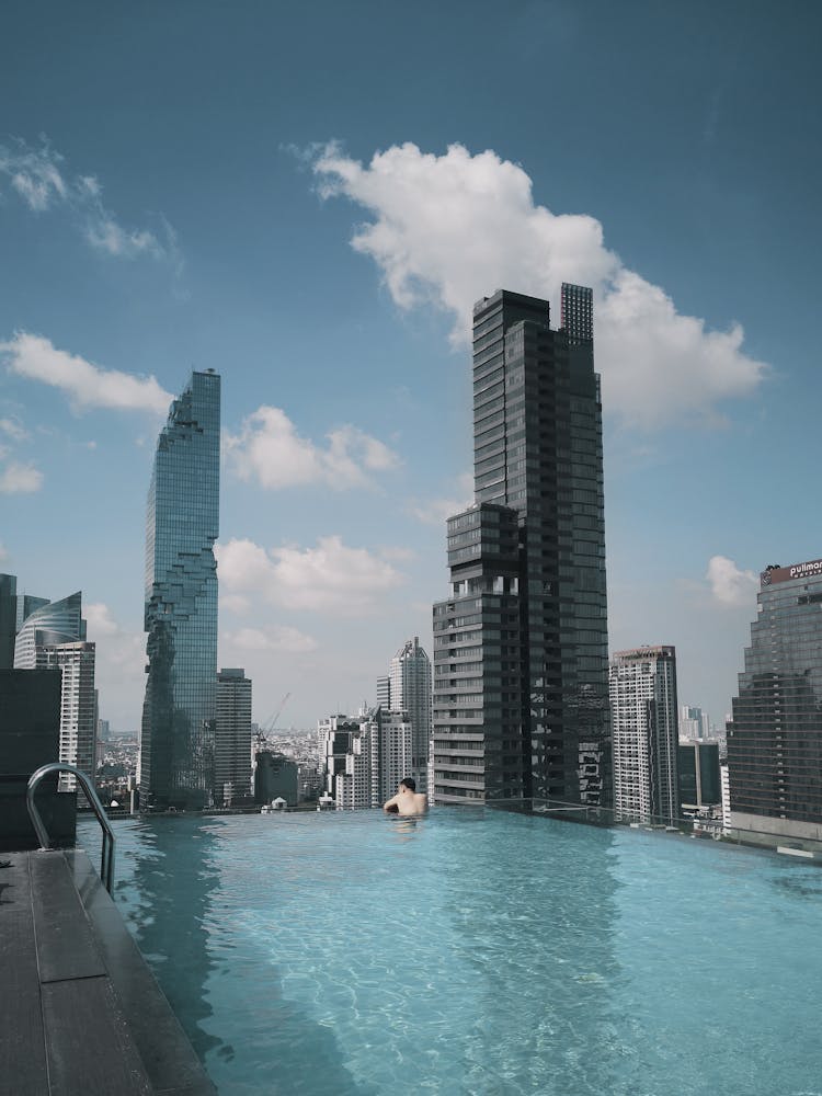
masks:
{"type": "Polygon", "coordinates": [[[617,651],[609,693],[616,819],[673,824],[681,813],[674,648],[617,651]]]}

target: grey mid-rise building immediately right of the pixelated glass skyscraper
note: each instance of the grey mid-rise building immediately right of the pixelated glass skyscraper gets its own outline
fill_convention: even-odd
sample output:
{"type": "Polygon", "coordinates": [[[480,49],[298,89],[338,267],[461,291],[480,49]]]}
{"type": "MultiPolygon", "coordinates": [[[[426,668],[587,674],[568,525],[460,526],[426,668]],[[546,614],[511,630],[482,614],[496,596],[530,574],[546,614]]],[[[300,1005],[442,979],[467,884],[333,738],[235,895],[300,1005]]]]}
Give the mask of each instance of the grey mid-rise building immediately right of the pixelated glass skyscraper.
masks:
{"type": "Polygon", "coordinates": [[[214,735],[215,802],[230,807],[251,795],[251,678],[244,670],[217,674],[214,735]]]}

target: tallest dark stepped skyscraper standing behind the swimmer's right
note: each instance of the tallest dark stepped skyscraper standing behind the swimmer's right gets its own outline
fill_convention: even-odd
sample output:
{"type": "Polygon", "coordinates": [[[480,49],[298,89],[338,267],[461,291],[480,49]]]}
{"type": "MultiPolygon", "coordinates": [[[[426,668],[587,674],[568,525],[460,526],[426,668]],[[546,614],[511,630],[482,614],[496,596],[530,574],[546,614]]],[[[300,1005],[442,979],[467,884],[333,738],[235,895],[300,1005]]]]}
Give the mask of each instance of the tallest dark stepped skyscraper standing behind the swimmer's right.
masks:
{"type": "Polygon", "coordinates": [[[600,378],[592,294],[473,309],[477,505],[434,607],[434,798],[609,801],[600,378]]]}

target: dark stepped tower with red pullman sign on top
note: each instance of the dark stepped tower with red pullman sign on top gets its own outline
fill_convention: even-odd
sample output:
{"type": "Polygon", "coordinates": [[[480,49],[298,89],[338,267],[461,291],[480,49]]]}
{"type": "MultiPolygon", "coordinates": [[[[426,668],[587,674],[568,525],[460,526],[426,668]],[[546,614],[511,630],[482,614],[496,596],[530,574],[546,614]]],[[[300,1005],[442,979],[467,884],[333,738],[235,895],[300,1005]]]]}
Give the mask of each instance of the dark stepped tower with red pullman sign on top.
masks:
{"type": "Polygon", "coordinates": [[[731,825],[822,836],[822,560],[761,575],[728,730],[731,825]]]}

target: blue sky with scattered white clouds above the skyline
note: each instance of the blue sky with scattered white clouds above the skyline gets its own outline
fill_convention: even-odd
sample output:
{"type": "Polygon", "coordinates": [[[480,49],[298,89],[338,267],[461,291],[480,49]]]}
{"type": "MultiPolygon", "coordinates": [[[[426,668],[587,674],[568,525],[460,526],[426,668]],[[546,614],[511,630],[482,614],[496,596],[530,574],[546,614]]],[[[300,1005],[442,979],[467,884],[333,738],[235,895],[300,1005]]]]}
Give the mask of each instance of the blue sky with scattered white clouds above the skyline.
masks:
{"type": "Polygon", "coordinates": [[[146,492],[222,376],[219,665],[254,718],[432,653],[471,305],[591,285],[613,650],[730,710],[758,572],[822,555],[815,0],[8,0],[0,570],[83,594],[139,726],[146,492]]]}

